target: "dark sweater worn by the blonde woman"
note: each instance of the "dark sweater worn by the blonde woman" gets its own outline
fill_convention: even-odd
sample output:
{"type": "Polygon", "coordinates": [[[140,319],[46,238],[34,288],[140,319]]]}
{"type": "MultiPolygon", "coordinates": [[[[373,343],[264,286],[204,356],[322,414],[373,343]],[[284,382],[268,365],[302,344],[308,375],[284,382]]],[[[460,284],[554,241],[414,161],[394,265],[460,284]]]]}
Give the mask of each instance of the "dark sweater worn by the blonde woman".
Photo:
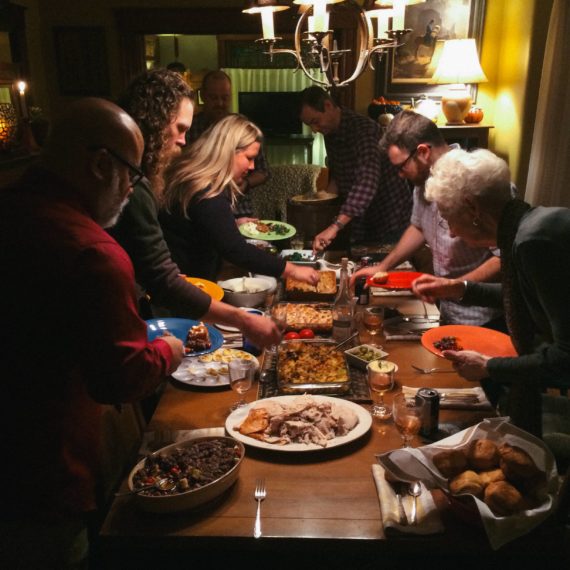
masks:
{"type": "Polygon", "coordinates": [[[175,211],[159,213],[164,237],[180,269],[187,275],[215,281],[225,259],[247,271],[279,277],[285,270],[285,260],[245,241],[226,193],[200,199],[205,192],[194,196],[187,217],[175,211]]]}

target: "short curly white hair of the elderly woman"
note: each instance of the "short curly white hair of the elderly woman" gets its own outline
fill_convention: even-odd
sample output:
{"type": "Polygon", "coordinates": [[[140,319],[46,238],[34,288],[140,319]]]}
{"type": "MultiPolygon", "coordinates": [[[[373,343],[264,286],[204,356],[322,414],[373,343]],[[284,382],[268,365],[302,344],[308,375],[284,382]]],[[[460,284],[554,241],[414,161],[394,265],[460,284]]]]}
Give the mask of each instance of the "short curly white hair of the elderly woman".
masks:
{"type": "Polygon", "coordinates": [[[499,212],[512,197],[510,180],[507,163],[491,151],[454,149],[432,166],[425,196],[451,215],[465,207],[466,198],[478,201],[489,212],[499,212]]]}

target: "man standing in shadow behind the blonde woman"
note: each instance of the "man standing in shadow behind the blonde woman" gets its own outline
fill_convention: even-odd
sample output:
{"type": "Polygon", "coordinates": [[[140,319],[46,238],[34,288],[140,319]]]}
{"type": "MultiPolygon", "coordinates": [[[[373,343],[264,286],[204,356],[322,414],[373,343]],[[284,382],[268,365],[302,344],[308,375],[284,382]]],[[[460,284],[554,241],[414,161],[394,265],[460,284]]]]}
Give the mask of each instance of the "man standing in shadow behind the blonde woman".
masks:
{"type": "MultiPolygon", "coordinates": [[[[188,144],[194,143],[206,129],[231,112],[232,80],[230,76],[221,69],[206,73],[202,81],[200,96],[204,105],[202,112],[194,117],[192,126],[186,134],[188,144]]],[[[253,219],[253,207],[248,194],[249,189],[263,184],[269,178],[269,168],[263,154],[263,145],[254,164],[255,168],[248,174],[240,187],[243,196],[234,207],[234,216],[238,224],[253,219]]]]}

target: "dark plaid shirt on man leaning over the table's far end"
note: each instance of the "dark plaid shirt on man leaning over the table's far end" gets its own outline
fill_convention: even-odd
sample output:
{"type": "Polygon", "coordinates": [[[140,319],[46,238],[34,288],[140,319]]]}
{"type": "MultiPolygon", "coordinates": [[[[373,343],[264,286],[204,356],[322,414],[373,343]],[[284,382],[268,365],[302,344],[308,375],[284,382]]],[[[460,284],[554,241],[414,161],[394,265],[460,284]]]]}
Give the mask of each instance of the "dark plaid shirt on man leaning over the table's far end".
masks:
{"type": "Polygon", "coordinates": [[[353,241],[398,241],[410,222],[412,192],[380,152],[381,136],[378,123],[342,109],[339,128],[324,137],[331,176],[345,197],[340,213],[353,218],[353,241]]]}

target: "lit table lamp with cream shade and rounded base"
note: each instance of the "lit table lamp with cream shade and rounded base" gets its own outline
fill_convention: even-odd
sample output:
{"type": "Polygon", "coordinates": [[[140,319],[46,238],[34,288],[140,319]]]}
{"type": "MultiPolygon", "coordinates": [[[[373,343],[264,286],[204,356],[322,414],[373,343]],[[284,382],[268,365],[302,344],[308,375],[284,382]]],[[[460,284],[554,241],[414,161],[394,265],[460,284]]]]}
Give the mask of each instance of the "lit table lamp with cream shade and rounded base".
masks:
{"type": "Polygon", "coordinates": [[[441,110],[448,125],[463,124],[471,109],[471,94],[465,84],[485,81],[487,77],[479,63],[475,40],[447,40],[432,83],[449,84],[441,97],[441,110]]]}

